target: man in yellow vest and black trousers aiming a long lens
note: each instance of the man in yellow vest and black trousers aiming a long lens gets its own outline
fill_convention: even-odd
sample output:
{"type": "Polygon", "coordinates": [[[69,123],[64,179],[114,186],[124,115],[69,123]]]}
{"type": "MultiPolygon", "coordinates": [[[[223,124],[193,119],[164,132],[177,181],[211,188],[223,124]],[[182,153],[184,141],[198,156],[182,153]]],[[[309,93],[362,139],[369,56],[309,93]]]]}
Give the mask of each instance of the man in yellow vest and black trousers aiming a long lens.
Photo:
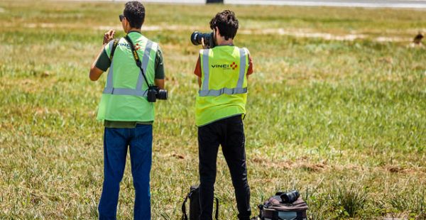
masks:
{"type": "Polygon", "coordinates": [[[239,219],[250,219],[250,187],[247,181],[243,119],[246,114],[247,76],[253,72],[249,50],[234,46],[239,23],[233,11],[217,13],[210,28],[214,48],[200,50],[195,75],[200,91],[196,124],[200,157],[201,220],[212,219],[214,182],[219,145],[231,172],[239,219]]]}

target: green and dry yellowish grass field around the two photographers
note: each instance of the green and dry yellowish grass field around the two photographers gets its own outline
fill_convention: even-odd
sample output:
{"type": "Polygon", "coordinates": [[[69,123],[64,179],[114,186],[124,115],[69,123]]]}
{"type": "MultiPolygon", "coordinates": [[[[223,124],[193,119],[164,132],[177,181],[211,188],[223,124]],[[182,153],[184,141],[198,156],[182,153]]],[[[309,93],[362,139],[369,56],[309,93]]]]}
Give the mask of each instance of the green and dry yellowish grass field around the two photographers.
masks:
{"type": "MultiPolygon", "coordinates": [[[[0,219],[97,218],[106,77],[88,72],[103,33],[124,36],[123,6],[0,1],[0,219]]],[[[277,189],[299,189],[310,219],[426,219],[426,49],[405,40],[426,31],[426,11],[146,4],[143,34],[163,49],[170,92],[156,107],[153,219],[180,219],[198,182],[200,48],[189,39],[222,9],[236,11],[236,45],[255,65],[244,122],[253,214],[277,189]]],[[[119,219],[133,215],[129,167],[119,219]]],[[[220,219],[236,219],[222,153],[216,194],[220,219]]]]}

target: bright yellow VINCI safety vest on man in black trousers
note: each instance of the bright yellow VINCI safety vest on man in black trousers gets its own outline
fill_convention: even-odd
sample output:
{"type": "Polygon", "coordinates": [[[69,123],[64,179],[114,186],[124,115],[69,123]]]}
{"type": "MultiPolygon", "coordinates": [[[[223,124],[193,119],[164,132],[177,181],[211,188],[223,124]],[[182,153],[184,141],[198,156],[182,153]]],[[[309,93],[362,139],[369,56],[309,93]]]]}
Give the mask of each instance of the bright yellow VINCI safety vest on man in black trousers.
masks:
{"type": "Polygon", "coordinates": [[[200,50],[200,62],[202,84],[195,104],[196,125],[246,114],[249,50],[230,45],[200,50]]]}

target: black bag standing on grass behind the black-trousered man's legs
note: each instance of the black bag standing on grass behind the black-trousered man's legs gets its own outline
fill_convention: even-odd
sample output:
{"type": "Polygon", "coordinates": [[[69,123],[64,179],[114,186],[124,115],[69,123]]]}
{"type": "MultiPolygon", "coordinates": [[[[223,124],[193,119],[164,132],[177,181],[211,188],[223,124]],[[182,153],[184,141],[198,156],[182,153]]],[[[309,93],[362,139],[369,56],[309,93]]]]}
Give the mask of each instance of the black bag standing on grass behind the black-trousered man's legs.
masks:
{"type": "MultiPolygon", "coordinates": [[[[182,220],[188,220],[186,214],[186,202],[187,199],[190,199],[190,219],[189,220],[198,220],[200,217],[200,188],[198,185],[193,185],[190,187],[190,192],[187,194],[182,204],[182,220]]],[[[216,220],[219,218],[219,199],[216,198],[216,220]]]]}

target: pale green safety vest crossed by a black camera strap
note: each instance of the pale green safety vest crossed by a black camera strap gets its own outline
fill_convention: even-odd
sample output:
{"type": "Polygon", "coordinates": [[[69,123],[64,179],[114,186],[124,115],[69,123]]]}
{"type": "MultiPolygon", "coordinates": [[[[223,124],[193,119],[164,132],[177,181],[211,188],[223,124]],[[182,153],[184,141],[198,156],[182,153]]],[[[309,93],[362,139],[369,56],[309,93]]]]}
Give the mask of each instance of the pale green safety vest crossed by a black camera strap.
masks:
{"type": "MultiPolygon", "coordinates": [[[[158,44],[140,33],[129,33],[133,45],[142,60],[142,69],[150,84],[155,78],[155,55],[158,44]]],[[[111,41],[105,49],[107,54],[113,45],[111,41]]],[[[109,67],[107,82],[99,103],[98,120],[108,121],[153,121],[154,105],[148,102],[148,86],[142,72],[133,59],[126,39],[121,38],[114,51],[109,67]]]]}

